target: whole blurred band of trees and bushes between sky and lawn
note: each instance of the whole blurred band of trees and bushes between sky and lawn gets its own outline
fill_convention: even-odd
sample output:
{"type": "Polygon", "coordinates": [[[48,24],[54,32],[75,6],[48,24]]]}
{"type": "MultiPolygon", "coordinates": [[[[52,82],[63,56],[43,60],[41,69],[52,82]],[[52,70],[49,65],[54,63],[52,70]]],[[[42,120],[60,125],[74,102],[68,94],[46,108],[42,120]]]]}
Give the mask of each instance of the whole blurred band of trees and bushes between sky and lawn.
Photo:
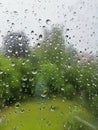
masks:
{"type": "Polygon", "coordinates": [[[98,61],[83,60],[59,28],[32,48],[23,33],[17,35],[5,37],[0,55],[0,106],[58,95],[79,100],[98,116],[98,61]]]}

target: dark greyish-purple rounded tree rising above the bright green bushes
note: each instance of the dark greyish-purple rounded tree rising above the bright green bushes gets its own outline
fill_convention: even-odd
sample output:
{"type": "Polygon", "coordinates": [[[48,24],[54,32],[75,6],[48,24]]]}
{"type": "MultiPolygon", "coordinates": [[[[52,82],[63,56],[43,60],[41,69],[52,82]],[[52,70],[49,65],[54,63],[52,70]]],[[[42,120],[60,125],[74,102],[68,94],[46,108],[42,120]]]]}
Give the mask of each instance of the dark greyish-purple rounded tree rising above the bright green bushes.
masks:
{"type": "Polygon", "coordinates": [[[24,32],[10,32],[3,39],[3,50],[10,57],[27,57],[30,53],[29,39],[24,32]]]}

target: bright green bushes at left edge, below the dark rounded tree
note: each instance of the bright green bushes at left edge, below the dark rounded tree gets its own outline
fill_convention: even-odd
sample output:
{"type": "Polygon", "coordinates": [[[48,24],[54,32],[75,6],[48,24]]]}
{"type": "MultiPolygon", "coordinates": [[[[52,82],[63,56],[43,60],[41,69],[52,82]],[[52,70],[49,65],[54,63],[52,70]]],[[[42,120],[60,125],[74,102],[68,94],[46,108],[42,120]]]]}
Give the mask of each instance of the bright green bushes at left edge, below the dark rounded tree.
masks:
{"type": "Polygon", "coordinates": [[[33,95],[32,65],[24,58],[7,58],[0,55],[0,101],[12,103],[24,94],[33,95]]]}

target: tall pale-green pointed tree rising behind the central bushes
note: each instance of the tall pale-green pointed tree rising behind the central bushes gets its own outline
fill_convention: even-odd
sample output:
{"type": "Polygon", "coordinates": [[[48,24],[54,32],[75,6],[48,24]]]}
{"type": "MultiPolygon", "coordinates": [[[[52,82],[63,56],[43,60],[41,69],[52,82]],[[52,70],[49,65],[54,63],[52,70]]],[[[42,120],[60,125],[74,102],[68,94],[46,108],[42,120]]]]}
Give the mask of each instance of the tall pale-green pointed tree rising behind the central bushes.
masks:
{"type": "Polygon", "coordinates": [[[50,62],[60,69],[63,69],[65,64],[76,62],[75,55],[76,50],[72,46],[65,46],[64,36],[59,28],[54,28],[48,38],[40,43],[40,46],[35,47],[32,54],[34,59],[36,57],[36,63],[50,62]]]}

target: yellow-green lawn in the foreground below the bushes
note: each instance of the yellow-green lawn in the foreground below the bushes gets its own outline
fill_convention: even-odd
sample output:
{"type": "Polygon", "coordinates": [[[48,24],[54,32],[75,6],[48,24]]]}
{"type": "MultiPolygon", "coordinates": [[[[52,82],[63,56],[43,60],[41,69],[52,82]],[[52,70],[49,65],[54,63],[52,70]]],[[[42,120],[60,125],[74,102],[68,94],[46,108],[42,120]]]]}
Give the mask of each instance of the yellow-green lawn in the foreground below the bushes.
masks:
{"type": "Polygon", "coordinates": [[[94,117],[62,98],[17,102],[0,112],[0,130],[97,130],[94,117]]]}

